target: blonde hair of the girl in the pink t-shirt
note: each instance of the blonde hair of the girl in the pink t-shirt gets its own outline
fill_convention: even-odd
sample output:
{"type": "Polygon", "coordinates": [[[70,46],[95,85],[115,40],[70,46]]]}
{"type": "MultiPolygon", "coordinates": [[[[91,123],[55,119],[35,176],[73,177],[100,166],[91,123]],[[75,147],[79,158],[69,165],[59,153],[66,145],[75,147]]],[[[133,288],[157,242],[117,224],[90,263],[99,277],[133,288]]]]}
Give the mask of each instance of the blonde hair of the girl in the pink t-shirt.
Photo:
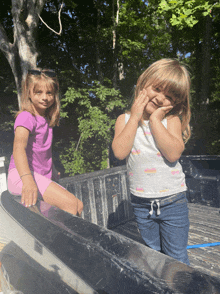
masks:
{"type": "Polygon", "coordinates": [[[45,117],[49,120],[51,127],[59,125],[60,118],[60,99],[59,99],[59,82],[56,76],[47,76],[46,69],[36,69],[41,74],[35,75],[31,71],[28,72],[25,80],[22,82],[22,94],[21,94],[21,109],[17,112],[16,117],[22,111],[28,111],[35,116],[34,106],[29,98],[30,88],[33,87],[33,91],[36,92],[38,87],[44,83],[46,88],[54,95],[54,103],[48,109],[46,109],[45,117]]]}

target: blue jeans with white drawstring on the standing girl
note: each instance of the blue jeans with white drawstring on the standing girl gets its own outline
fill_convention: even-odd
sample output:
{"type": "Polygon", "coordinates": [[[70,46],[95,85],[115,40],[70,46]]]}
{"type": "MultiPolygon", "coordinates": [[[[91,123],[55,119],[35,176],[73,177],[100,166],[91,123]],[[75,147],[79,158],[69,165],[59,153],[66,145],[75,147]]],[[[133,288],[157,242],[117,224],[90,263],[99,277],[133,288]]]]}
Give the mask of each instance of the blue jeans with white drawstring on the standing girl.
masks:
{"type": "MultiPolygon", "coordinates": [[[[153,199],[152,199],[153,200],[153,199]]],[[[131,204],[146,245],[189,265],[186,193],[154,201],[131,194],[131,204]]]]}

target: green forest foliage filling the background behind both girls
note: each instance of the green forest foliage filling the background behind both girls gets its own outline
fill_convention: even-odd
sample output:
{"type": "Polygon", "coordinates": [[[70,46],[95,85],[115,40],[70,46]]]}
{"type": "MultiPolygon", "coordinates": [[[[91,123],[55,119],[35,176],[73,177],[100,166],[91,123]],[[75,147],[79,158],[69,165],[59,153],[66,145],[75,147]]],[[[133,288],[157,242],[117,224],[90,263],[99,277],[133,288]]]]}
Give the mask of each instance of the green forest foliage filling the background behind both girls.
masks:
{"type": "MultiPolygon", "coordinates": [[[[46,1],[41,13],[42,18],[56,31],[59,30],[57,12],[60,4],[60,0],[46,1]]],[[[57,153],[62,151],[66,173],[84,173],[107,167],[113,125],[120,114],[119,109],[127,103],[123,97],[131,97],[141,72],[164,57],[178,57],[192,68],[193,138],[187,146],[192,147],[191,152],[195,154],[194,142],[204,139],[210,154],[220,153],[219,7],[216,0],[119,1],[118,23],[113,24],[117,1],[65,0],[61,13],[63,32],[60,36],[39,22],[36,40],[38,66],[54,69],[59,77],[61,96],[66,93],[62,100],[63,128],[57,128],[61,130],[55,134],[54,140],[60,143],[57,153]],[[206,18],[206,15],[211,17],[206,18]],[[205,39],[206,19],[211,23],[208,42],[205,39]],[[114,50],[113,30],[116,32],[114,50]],[[206,80],[202,65],[207,61],[204,57],[207,44],[210,44],[211,62],[207,99],[213,115],[203,123],[206,112],[201,116],[198,109],[202,100],[201,86],[206,80]],[[123,73],[120,76],[123,76],[122,79],[119,79],[119,69],[123,73]],[[103,78],[114,80],[115,87],[120,89],[123,97],[107,81],[91,83],[102,81],[103,78]],[[206,131],[200,133],[201,129],[206,131]],[[63,150],[66,144],[68,146],[63,150]]],[[[1,1],[0,8],[0,23],[13,42],[11,3],[1,1]]],[[[1,52],[0,65],[1,110],[9,103],[17,110],[13,74],[1,52]]]]}

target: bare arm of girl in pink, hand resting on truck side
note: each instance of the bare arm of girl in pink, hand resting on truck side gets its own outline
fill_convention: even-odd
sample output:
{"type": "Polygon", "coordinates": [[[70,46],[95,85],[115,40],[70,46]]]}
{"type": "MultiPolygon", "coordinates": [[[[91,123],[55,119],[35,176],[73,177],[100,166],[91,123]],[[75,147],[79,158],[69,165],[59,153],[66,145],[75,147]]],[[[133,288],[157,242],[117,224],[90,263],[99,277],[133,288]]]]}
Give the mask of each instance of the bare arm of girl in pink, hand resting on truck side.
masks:
{"type": "Polygon", "coordinates": [[[38,193],[36,183],[29,168],[26,154],[28,137],[29,131],[26,128],[16,128],[13,145],[13,157],[15,166],[23,183],[21,202],[24,203],[25,206],[35,205],[38,193]]]}

